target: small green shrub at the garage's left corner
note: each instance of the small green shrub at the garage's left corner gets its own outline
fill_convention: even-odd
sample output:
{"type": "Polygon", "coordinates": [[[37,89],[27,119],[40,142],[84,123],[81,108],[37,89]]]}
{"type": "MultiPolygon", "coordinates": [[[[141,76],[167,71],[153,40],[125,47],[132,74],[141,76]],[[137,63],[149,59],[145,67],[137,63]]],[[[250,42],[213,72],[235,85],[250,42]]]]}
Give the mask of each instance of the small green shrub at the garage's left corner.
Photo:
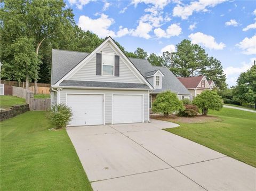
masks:
{"type": "Polygon", "coordinates": [[[69,121],[72,119],[72,115],[71,108],[66,104],[60,103],[52,106],[49,117],[56,128],[59,129],[68,125],[69,121]]]}

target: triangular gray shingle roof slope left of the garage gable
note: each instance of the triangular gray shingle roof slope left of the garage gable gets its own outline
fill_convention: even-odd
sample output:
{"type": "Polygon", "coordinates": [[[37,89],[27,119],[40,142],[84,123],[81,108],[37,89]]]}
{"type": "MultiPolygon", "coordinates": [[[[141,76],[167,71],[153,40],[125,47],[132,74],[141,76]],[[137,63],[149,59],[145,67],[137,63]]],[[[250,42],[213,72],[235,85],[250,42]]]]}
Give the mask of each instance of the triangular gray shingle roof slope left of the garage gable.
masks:
{"type": "Polygon", "coordinates": [[[59,81],[89,53],[52,49],[51,85],[59,81]]]}

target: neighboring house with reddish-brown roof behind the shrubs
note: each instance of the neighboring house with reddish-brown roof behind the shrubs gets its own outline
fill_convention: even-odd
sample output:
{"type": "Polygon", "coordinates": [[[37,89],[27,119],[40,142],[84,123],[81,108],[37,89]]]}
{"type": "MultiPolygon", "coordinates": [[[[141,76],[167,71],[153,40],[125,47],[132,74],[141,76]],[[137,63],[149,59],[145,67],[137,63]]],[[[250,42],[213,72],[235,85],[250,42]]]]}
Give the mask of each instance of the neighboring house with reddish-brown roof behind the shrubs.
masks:
{"type": "Polygon", "coordinates": [[[201,94],[205,89],[211,89],[205,76],[195,76],[178,79],[189,90],[190,94],[192,95],[192,99],[196,95],[201,94]]]}

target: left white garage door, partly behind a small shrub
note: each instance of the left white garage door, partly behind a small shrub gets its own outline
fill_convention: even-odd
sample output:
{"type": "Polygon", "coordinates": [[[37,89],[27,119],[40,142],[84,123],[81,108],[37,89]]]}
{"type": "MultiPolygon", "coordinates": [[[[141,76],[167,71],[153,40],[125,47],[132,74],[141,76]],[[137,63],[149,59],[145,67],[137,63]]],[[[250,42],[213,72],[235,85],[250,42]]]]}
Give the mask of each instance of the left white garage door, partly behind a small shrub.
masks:
{"type": "Polygon", "coordinates": [[[103,95],[67,94],[67,105],[73,112],[70,126],[103,124],[103,95]]]}

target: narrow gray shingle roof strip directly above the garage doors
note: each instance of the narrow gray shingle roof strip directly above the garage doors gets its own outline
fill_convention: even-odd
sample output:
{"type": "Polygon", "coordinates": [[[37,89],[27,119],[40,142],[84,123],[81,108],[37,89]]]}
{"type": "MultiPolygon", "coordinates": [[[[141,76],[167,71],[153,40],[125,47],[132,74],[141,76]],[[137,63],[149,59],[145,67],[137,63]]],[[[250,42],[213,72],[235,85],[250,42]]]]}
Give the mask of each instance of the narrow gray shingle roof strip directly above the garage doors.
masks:
{"type": "Polygon", "coordinates": [[[60,86],[150,89],[146,84],[105,82],[105,81],[76,81],[76,80],[63,80],[60,83],[60,86]]]}

